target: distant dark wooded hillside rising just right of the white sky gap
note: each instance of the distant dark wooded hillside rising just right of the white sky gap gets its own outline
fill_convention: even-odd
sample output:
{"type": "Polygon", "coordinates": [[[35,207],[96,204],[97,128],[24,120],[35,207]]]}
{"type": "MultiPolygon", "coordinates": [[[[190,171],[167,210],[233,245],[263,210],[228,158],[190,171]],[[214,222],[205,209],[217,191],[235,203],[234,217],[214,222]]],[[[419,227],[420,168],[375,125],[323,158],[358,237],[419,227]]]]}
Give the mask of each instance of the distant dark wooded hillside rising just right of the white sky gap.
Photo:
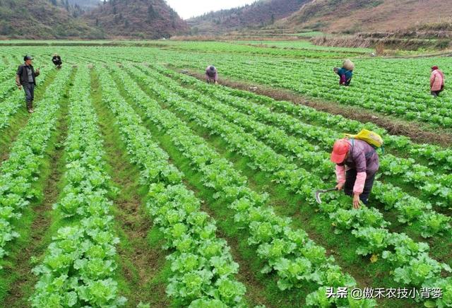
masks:
{"type": "Polygon", "coordinates": [[[280,18],[290,16],[309,0],[261,0],[239,8],[206,13],[187,20],[191,32],[212,35],[271,25],[280,18]]]}

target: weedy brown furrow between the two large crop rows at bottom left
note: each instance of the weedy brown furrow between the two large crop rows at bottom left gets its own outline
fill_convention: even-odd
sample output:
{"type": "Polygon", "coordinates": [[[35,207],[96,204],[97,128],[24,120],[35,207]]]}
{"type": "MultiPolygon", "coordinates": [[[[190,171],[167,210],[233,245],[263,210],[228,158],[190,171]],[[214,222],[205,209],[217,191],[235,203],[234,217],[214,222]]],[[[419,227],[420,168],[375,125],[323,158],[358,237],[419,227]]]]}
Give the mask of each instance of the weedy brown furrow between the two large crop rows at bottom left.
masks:
{"type": "Polygon", "coordinates": [[[120,238],[119,288],[128,299],[127,307],[136,307],[140,302],[150,307],[168,307],[165,288],[169,264],[161,248],[162,237],[144,211],[147,187],[138,182],[140,170],[130,163],[114,114],[102,102],[97,79],[100,69],[95,70],[91,70],[91,96],[105,141],[109,174],[119,189],[114,199],[114,221],[120,238]]]}

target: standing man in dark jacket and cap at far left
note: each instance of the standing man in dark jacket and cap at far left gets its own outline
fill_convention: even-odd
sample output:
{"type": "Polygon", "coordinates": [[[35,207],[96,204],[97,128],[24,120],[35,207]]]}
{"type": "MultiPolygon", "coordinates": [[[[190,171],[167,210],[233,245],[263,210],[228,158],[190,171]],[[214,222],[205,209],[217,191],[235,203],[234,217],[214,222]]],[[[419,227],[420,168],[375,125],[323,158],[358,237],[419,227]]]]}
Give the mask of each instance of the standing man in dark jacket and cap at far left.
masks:
{"type": "Polygon", "coordinates": [[[16,85],[19,90],[23,87],[25,92],[25,102],[28,113],[33,113],[33,100],[35,100],[35,86],[36,77],[40,75],[40,69],[35,69],[32,66],[32,57],[23,57],[24,64],[20,64],[16,73],[16,85]]]}

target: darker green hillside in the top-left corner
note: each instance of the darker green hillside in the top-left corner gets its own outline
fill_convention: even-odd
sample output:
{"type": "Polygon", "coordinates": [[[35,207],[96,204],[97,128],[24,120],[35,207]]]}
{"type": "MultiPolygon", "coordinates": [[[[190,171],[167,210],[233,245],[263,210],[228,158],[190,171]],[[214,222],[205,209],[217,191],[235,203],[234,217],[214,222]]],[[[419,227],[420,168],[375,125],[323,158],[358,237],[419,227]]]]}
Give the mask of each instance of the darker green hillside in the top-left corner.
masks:
{"type": "Polygon", "coordinates": [[[1,0],[0,36],[21,39],[101,38],[102,30],[73,16],[59,0],[1,0]]]}

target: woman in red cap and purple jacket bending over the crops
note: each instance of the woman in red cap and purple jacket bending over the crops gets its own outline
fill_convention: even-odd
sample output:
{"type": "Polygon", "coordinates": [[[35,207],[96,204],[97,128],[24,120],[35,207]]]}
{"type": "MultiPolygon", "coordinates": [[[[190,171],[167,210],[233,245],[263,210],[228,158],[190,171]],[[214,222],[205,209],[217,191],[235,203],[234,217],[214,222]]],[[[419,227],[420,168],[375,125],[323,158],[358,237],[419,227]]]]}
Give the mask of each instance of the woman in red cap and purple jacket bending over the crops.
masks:
{"type": "Polygon", "coordinates": [[[375,148],[355,138],[339,139],[334,143],[331,161],[336,164],[336,189],[344,189],[346,195],[353,196],[354,208],[359,208],[359,201],[367,205],[380,167],[375,148]]]}

